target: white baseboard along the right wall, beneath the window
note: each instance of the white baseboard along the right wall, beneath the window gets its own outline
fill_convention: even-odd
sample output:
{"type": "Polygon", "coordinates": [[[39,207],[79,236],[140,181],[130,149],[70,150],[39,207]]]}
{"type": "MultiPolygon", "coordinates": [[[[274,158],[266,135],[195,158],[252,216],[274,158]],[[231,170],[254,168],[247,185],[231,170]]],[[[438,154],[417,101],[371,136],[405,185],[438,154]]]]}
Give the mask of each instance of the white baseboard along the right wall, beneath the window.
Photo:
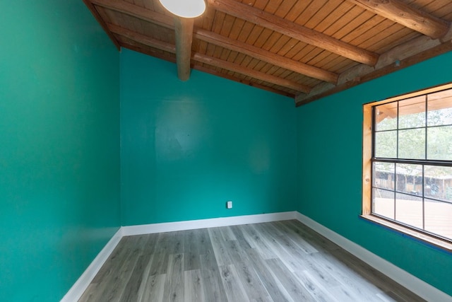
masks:
{"type": "Polygon", "coordinates": [[[296,212],[297,220],[312,228],[317,233],[325,236],[333,243],[339,245],[344,250],[352,253],[359,259],[367,262],[371,267],[378,269],[380,272],[396,281],[398,284],[405,286],[407,289],[424,298],[427,301],[452,301],[452,296],[436,289],[436,287],[428,284],[425,281],[413,276],[400,267],[393,265],[391,262],[384,260],[383,258],[375,255],[373,252],[362,248],[360,245],[348,240],[347,238],[340,236],[338,233],[331,231],[326,226],[310,219],[299,212],[296,212]]]}

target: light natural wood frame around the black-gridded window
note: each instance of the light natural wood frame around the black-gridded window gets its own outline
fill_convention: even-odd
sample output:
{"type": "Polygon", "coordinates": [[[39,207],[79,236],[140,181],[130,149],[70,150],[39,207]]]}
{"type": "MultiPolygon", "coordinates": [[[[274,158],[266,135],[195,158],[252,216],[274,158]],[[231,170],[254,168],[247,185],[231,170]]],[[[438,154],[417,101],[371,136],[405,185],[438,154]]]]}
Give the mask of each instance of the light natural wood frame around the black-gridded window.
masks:
{"type": "Polygon", "coordinates": [[[432,88],[422,89],[420,91],[415,91],[412,93],[406,93],[403,95],[398,95],[393,98],[388,98],[385,100],[375,101],[363,105],[363,127],[362,127],[362,214],[361,217],[377,223],[386,228],[391,228],[397,232],[408,235],[412,238],[416,238],[425,243],[436,246],[443,250],[452,252],[452,241],[442,240],[429,233],[424,233],[415,228],[410,228],[408,226],[403,226],[402,224],[382,219],[379,216],[371,214],[371,190],[372,190],[372,145],[373,145],[373,110],[372,108],[376,105],[382,105],[386,103],[391,103],[397,100],[403,100],[406,98],[414,98],[419,95],[425,95],[429,93],[435,93],[437,91],[442,91],[446,89],[452,89],[452,83],[447,83],[440,86],[435,86],[432,88]]]}

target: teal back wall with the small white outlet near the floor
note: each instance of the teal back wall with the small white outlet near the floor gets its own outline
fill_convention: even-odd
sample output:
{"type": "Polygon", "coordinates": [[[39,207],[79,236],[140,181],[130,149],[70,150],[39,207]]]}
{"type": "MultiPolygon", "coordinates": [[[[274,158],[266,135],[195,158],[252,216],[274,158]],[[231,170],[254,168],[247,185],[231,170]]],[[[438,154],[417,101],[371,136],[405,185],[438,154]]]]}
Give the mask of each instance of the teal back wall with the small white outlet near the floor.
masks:
{"type": "Polygon", "coordinates": [[[176,71],[121,53],[123,225],[295,209],[293,99],[176,71]]]}

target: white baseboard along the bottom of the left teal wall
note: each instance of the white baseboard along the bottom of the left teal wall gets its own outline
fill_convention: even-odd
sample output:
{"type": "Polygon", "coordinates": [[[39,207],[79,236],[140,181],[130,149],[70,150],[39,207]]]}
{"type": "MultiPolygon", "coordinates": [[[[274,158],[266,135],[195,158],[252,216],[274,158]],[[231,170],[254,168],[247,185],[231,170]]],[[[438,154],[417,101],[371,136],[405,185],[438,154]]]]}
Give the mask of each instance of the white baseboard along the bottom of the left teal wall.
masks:
{"type": "Polygon", "coordinates": [[[71,289],[64,295],[61,299],[61,302],[73,302],[78,301],[79,298],[83,295],[85,290],[90,285],[91,281],[93,281],[99,269],[104,265],[105,261],[107,261],[109,255],[113,252],[114,248],[119,243],[119,240],[122,238],[122,229],[114,233],[113,237],[107,242],[104,248],[100,250],[99,254],[94,258],[93,262],[85,269],[85,272],[78,278],[76,283],[73,284],[71,289]]]}

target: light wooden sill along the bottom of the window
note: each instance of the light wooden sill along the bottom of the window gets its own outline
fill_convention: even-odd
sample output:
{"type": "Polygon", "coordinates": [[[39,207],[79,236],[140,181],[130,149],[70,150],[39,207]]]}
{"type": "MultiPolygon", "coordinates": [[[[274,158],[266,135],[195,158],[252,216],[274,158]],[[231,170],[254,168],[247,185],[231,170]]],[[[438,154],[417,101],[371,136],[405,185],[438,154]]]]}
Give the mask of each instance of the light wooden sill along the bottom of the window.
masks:
{"type": "Polygon", "coordinates": [[[387,221],[386,219],[381,219],[377,216],[373,216],[370,214],[363,214],[360,215],[363,219],[366,219],[368,221],[371,221],[373,223],[377,223],[381,226],[384,226],[386,228],[391,228],[392,230],[398,231],[400,233],[403,233],[405,235],[408,235],[412,238],[421,240],[424,243],[427,243],[429,245],[434,245],[436,248],[440,248],[441,250],[446,250],[447,252],[452,252],[452,243],[448,242],[446,240],[441,240],[439,238],[435,238],[433,236],[429,236],[426,233],[422,233],[420,231],[415,231],[412,228],[407,228],[405,226],[401,226],[398,223],[393,223],[391,221],[387,221]]]}

